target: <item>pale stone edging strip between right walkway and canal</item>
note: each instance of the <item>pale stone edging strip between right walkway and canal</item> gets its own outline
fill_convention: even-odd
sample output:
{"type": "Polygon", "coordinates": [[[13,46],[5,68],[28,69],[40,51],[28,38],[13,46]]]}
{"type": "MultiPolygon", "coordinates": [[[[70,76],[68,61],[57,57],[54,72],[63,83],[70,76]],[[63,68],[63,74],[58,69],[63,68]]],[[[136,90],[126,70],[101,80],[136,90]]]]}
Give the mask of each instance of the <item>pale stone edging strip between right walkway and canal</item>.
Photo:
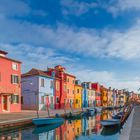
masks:
{"type": "Polygon", "coordinates": [[[126,123],[124,124],[123,129],[120,132],[119,140],[129,140],[131,129],[132,129],[133,118],[134,118],[134,112],[135,110],[133,109],[126,123]]]}

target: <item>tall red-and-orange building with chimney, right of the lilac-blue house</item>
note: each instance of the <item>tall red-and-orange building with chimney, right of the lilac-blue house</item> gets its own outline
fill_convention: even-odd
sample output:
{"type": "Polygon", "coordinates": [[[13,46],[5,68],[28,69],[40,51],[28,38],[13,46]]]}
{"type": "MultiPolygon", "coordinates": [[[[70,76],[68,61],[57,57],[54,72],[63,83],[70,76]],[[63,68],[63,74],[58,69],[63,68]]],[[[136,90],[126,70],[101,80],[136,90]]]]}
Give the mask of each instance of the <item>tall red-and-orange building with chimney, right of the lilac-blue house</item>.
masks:
{"type": "Polygon", "coordinates": [[[48,68],[47,73],[52,75],[55,73],[55,108],[70,107],[70,103],[74,102],[74,84],[75,76],[65,72],[65,68],[58,65],[55,68],[48,68]]]}

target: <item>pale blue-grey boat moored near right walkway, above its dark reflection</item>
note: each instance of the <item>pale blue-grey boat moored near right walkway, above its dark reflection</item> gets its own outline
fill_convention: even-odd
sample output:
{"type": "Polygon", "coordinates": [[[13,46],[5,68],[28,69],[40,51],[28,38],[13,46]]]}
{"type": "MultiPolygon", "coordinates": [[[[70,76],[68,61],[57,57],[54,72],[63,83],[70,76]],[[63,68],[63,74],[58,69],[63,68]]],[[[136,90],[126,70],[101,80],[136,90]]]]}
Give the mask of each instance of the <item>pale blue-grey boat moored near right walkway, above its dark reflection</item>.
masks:
{"type": "Polygon", "coordinates": [[[104,127],[120,125],[120,120],[119,119],[102,120],[101,124],[104,127]]]}

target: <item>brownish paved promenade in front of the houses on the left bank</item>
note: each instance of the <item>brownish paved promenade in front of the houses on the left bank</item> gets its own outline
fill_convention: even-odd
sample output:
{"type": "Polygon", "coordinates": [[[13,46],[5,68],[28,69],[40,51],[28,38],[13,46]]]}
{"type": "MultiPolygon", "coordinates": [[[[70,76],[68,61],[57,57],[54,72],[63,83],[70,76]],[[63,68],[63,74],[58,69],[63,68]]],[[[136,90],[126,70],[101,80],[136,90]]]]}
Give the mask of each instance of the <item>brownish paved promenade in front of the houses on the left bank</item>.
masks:
{"type": "MultiPolygon", "coordinates": [[[[85,109],[84,109],[85,110],[85,109]]],[[[81,112],[82,109],[74,109],[73,113],[81,112]]],[[[71,109],[67,109],[66,113],[71,112],[71,109]]],[[[50,116],[54,117],[55,114],[64,115],[63,109],[50,110],[50,116]]],[[[33,118],[37,117],[36,111],[24,110],[19,113],[1,113],[0,114],[0,129],[7,129],[15,126],[22,126],[32,122],[33,118]]],[[[48,117],[47,111],[39,111],[39,117],[48,117]]]]}

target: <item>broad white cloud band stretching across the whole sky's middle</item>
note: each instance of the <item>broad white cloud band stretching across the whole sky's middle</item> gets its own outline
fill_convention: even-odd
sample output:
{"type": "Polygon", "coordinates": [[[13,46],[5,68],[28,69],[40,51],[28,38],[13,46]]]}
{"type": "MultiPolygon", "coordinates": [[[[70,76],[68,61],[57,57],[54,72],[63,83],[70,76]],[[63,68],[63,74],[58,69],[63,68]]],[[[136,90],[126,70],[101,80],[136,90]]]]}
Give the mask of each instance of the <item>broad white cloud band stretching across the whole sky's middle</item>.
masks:
{"type": "Polygon", "coordinates": [[[89,57],[140,58],[140,21],[127,31],[57,28],[0,18],[1,43],[25,43],[51,46],[89,57]]]}

